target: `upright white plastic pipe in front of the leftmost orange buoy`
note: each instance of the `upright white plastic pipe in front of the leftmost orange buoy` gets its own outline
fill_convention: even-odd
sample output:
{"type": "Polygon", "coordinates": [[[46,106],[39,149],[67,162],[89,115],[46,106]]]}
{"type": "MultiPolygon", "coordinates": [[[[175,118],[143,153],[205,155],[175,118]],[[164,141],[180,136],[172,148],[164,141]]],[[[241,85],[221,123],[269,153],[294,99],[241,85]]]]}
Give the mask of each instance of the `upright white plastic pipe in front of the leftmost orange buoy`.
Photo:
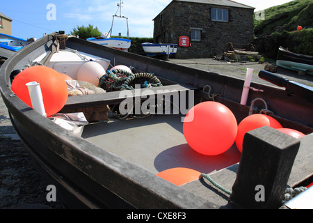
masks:
{"type": "Polygon", "coordinates": [[[45,106],[42,100],[42,92],[40,89],[40,84],[37,82],[29,82],[26,84],[29,89],[29,95],[31,96],[31,105],[33,105],[33,109],[42,116],[47,117],[45,112],[45,106]]]}

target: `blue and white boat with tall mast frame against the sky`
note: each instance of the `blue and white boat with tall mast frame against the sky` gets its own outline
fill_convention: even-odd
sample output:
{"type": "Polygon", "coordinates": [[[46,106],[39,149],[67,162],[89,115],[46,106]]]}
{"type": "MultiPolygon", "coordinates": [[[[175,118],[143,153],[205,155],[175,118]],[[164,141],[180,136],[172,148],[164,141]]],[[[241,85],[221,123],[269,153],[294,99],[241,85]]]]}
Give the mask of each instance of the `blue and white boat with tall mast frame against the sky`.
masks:
{"type": "Polygon", "coordinates": [[[129,47],[131,46],[131,40],[129,40],[129,28],[128,28],[128,18],[122,16],[121,8],[122,8],[122,2],[118,4],[118,9],[120,9],[120,15],[113,15],[112,25],[111,29],[108,33],[104,33],[99,38],[88,38],[87,40],[93,43],[97,43],[99,45],[105,45],[106,47],[111,47],[114,49],[120,49],[122,51],[127,51],[129,47]],[[127,38],[111,38],[112,36],[112,29],[113,29],[113,23],[114,23],[114,17],[119,17],[122,19],[126,19],[127,24],[127,38]]]}

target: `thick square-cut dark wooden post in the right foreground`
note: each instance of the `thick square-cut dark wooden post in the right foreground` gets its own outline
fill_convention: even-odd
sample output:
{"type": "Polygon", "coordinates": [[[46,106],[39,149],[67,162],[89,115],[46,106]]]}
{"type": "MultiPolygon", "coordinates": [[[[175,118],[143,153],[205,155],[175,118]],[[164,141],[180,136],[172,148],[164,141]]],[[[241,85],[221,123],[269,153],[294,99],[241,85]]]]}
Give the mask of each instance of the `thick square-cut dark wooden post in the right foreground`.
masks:
{"type": "Polygon", "coordinates": [[[268,126],[245,134],[230,202],[239,208],[279,208],[300,141],[268,126]]]}

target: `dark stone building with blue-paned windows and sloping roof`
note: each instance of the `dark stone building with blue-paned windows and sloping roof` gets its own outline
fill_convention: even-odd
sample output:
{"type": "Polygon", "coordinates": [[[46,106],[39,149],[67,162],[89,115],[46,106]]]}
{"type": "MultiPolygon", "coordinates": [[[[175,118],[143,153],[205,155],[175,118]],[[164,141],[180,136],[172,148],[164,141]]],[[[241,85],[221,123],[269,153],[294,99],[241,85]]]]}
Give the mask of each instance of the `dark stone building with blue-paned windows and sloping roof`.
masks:
{"type": "Polygon", "coordinates": [[[177,49],[179,59],[211,57],[228,43],[244,48],[253,40],[254,9],[229,0],[172,0],[154,18],[154,43],[188,37],[190,45],[177,49]]]}

